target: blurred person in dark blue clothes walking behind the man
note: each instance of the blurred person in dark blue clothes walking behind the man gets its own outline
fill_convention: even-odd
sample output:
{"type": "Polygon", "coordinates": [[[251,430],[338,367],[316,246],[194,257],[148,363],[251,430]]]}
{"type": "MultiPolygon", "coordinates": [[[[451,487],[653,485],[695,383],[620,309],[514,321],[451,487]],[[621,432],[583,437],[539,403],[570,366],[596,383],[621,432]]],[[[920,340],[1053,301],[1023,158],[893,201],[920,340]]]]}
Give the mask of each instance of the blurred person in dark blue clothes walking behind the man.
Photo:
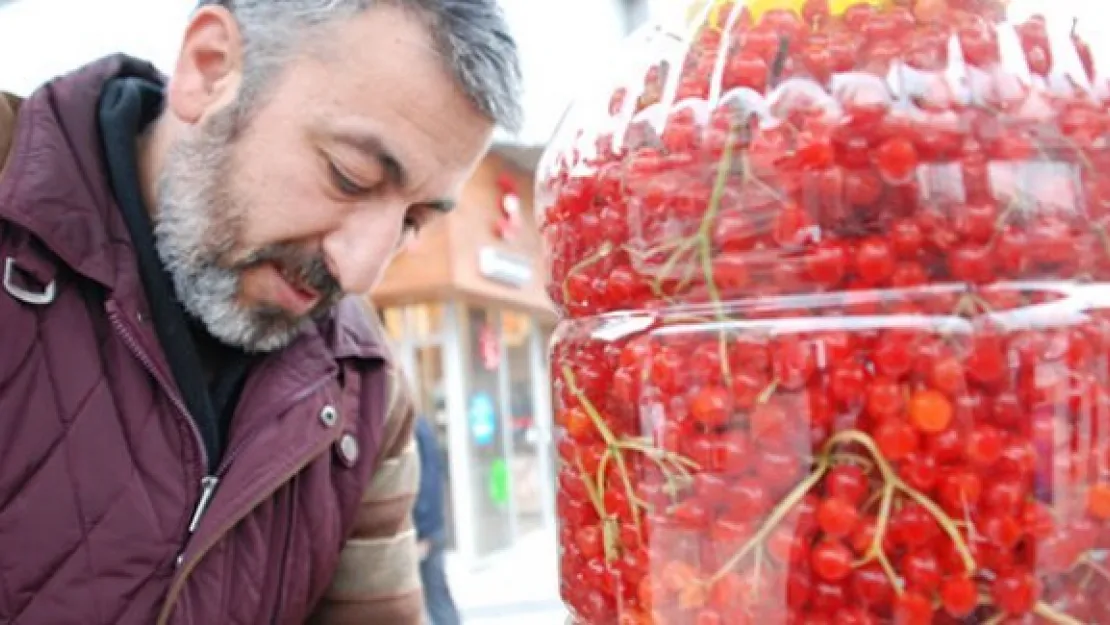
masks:
{"type": "Polygon", "coordinates": [[[420,575],[424,586],[424,606],[432,625],[458,625],[458,608],[451,596],[445,568],[446,521],[444,517],[444,467],[435,426],[425,416],[416,417],[416,446],[420,451],[420,490],[413,516],[420,547],[420,575]]]}

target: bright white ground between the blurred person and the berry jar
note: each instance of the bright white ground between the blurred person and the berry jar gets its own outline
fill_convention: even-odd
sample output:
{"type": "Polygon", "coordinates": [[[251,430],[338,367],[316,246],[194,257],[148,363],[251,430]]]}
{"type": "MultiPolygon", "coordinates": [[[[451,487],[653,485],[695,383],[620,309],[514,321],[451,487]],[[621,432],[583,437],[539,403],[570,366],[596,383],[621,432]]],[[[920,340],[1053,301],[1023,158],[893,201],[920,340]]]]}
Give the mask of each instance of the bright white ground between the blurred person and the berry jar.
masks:
{"type": "Polygon", "coordinates": [[[466,625],[564,625],[553,531],[523,536],[506,553],[467,569],[447,555],[447,577],[466,625]]]}

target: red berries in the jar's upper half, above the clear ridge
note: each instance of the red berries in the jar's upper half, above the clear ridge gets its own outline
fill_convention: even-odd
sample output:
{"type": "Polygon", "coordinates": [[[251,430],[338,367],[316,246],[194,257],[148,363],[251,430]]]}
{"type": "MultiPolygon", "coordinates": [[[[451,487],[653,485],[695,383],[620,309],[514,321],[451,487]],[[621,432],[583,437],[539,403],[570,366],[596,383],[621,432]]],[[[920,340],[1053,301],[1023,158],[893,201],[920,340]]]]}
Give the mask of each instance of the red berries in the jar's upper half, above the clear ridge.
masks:
{"type": "MultiPolygon", "coordinates": [[[[706,29],[680,80],[665,87],[663,62],[638,98],[618,90],[623,134],[565,151],[544,177],[556,304],[582,316],[714,291],[1102,278],[1110,117],[1078,84],[1049,89],[1062,81],[1050,61],[1064,54],[1046,22],[1010,27],[1018,60],[1040,59],[1026,82],[998,61],[998,31],[981,18],[917,23],[907,9],[869,9],[817,29],[780,11],[755,28],[737,20],[730,37],[706,29]],[[991,46],[973,47],[972,32],[991,46]],[[950,48],[965,50],[962,93],[950,48]],[[808,54],[831,57],[835,75],[808,54]],[[668,90],[678,100],[664,107],[668,90]]],[[[1084,70],[1064,78],[1090,82],[1084,70]]]]}

